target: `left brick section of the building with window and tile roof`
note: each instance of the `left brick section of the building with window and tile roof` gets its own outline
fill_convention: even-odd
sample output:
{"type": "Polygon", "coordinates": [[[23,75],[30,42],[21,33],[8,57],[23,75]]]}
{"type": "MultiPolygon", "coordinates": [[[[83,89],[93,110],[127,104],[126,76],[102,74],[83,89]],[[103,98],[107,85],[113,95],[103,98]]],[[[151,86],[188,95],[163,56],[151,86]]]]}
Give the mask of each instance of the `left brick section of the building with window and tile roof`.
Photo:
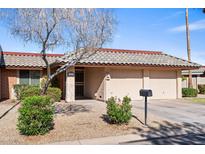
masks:
{"type": "MultiPolygon", "coordinates": [[[[49,63],[63,54],[47,54],[49,63]]],[[[13,85],[36,85],[46,75],[46,65],[38,53],[2,52],[0,65],[0,98],[15,98],[13,85]]],[[[59,75],[58,78],[63,78],[59,75]]],[[[63,84],[63,83],[62,83],[63,84]]],[[[60,85],[63,90],[63,85],[60,85]]]]}

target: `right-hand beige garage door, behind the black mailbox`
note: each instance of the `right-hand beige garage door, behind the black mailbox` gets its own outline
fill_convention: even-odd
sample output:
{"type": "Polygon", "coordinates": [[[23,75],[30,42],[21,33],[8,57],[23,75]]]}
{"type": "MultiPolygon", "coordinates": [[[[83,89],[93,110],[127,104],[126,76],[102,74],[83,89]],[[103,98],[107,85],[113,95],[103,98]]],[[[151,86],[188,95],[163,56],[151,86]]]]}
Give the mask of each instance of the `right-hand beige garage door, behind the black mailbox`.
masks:
{"type": "Polygon", "coordinates": [[[176,72],[150,71],[150,88],[154,99],[176,98],[176,72]]]}

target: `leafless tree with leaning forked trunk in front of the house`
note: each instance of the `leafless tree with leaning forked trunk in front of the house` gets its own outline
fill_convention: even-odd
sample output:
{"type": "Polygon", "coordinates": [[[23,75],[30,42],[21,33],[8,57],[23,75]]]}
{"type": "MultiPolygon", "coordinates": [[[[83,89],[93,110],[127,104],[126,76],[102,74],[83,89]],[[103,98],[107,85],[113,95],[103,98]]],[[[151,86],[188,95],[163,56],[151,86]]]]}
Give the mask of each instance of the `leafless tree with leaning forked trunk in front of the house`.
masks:
{"type": "Polygon", "coordinates": [[[41,94],[46,93],[55,76],[111,41],[116,25],[109,9],[17,9],[11,21],[13,35],[41,47],[48,76],[41,94]],[[62,45],[74,52],[68,53],[66,63],[50,74],[46,52],[62,45]]]}

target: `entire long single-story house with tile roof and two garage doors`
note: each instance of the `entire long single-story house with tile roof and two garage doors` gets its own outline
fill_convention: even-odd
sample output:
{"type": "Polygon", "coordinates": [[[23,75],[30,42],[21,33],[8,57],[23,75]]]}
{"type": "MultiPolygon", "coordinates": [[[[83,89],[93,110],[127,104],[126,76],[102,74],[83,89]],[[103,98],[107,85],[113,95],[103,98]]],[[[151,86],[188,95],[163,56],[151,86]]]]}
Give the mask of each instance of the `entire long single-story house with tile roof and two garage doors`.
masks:
{"type": "MultiPolygon", "coordinates": [[[[68,55],[47,54],[52,69],[69,61],[68,55]],[[52,63],[57,64],[52,65],[52,63]]],[[[99,49],[58,76],[66,101],[78,98],[107,100],[111,96],[139,100],[139,90],[153,90],[152,99],[181,98],[181,71],[200,65],[156,51],[99,49]]],[[[39,84],[46,74],[41,54],[3,52],[1,98],[14,98],[14,84],[39,84]]]]}

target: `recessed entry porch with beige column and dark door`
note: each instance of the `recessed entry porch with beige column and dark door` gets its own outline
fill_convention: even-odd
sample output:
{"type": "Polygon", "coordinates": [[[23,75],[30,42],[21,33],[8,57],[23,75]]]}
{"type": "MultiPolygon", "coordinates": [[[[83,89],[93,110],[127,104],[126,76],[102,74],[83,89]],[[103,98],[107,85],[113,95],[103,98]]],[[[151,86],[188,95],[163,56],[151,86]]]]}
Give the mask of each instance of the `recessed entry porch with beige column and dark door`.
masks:
{"type": "Polygon", "coordinates": [[[104,67],[73,67],[66,71],[65,76],[67,102],[81,99],[106,100],[104,67]]]}

